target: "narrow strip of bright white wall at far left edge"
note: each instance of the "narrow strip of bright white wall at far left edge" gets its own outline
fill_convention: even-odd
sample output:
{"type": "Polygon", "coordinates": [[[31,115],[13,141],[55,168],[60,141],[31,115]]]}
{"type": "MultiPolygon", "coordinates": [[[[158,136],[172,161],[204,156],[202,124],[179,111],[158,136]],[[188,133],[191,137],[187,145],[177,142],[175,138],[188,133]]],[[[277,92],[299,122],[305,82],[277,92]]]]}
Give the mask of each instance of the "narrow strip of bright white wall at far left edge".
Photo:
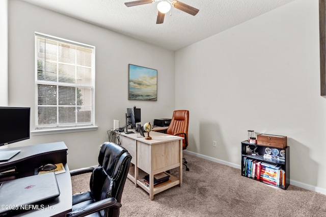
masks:
{"type": "Polygon", "coordinates": [[[8,1],[0,1],[0,106],[8,106],[8,1]]]}

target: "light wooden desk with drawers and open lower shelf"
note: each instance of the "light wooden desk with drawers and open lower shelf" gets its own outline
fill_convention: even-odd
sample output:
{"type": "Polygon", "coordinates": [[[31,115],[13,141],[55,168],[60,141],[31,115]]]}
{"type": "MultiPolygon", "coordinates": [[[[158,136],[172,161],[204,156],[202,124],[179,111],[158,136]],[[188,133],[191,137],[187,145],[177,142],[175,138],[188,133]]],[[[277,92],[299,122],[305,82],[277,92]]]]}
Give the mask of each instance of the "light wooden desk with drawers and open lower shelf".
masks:
{"type": "MultiPolygon", "coordinates": [[[[145,133],[147,134],[147,133],[145,133]]],[[[158,132],[150,132],[151,140],[140,137],[139,133],[121,133],[119,140],[121,146],[131,154],[131,164],[134,165],[134,175],[128,173],[128,178],[134,182],[135,187],[140,186],[151,200],[154,195],[175,185],[182,183],[182,139],[158,132]],[[173,168],[179,168],[179,177],[170,174],[170,180],[154,187],[154,175],[173,168]],[[145,185],[143,177],[138,177],[139,169],[149,174],[149,187],[145,185]]]]}

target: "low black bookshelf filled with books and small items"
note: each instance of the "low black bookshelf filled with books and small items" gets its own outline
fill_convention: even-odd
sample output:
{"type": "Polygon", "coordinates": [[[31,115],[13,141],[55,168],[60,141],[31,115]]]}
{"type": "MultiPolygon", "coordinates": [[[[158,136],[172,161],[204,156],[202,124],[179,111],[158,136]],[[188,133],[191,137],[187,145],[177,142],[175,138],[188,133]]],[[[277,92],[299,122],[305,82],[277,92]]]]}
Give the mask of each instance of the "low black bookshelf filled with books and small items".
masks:
{"type": "Polygon", "coordinates": [[[241,175],[286,190],[290,185],[290,147],[275,148],[242,141],[241,175]],[[268,151],[274,155],[266,154],[268,151]],[[280,152],[285,153],[283,160],[280,160],[283,157],[280,152]]]}

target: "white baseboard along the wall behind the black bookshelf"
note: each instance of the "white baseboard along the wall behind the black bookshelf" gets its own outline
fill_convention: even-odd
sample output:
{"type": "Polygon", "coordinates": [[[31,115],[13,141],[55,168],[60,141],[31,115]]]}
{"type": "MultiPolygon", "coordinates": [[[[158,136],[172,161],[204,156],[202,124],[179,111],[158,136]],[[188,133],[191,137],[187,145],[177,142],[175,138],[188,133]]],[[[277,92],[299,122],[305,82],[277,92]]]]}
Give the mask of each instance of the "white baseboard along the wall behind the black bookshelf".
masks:
{"type": "MultiPolygon", "coordinates": [[[[206,159],[206,160],[209,160],[209,161],[212,161],[212,162],[216,162],[216,163],[227,165],[227,166],[230,166],[230,167],[233,167],[233,168],[241,169],[240,165],[233,164],[233,163],[230,163],[230,162],[227,162],[227,161],[223,161],[223,160],[220,160],[220,159],[208,157],[208,156],[205,156],[203,154],[195,153],[195,152],[188,151],[188,150],[184,150],[184,152],[186,152],[188,154],[191,154],[193,156],[196,156],[198,158],[206,159]]],[[[318,188],[318,187],[310,185],[310,184],[305,184],[305,183],[295,181],[295,180],[291,180],[291,179],[290,179],[290,184],[292,184],[292,185],[294,185],[296,187],[302,188],[302,189],[306,189],[306,190],[309,190],[309,191],[312,191],[312,192],[318,192],[320,194],[326,195],[326,189],[318,188]]]]}

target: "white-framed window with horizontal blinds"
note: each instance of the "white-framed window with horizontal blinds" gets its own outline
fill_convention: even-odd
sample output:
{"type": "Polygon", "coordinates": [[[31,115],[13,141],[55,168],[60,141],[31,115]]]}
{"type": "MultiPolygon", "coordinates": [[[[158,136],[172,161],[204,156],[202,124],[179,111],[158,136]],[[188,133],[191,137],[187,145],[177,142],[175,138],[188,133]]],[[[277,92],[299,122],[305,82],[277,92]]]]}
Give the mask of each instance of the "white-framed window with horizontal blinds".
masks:
{"type": "Polygon", "coordinates": [[[35,33],[35,128],[94,126],[95,47],[35,33]]]}

